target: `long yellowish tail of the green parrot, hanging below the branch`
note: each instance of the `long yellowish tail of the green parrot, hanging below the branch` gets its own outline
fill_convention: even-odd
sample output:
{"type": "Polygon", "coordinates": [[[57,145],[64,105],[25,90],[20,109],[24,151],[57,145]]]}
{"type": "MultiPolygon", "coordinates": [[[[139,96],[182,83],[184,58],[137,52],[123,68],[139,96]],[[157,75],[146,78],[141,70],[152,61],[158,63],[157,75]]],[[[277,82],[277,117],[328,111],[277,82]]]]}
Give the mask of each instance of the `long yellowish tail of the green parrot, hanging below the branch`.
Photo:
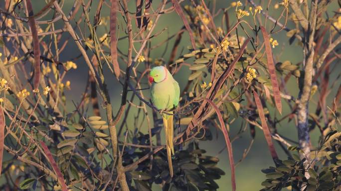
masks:
{"type": "MultiPolygon", "coordinates": [[[[172,111],[168,111],[172,112],[172,111]]],[[[173,177],[173,166],[171,163],[171,155],[174,154],[173,146],[173,115],[163,115],[165,134],[166,134],[166,148],[168,157],[168,166],[170,168],[171,177],[173,177]]]]}

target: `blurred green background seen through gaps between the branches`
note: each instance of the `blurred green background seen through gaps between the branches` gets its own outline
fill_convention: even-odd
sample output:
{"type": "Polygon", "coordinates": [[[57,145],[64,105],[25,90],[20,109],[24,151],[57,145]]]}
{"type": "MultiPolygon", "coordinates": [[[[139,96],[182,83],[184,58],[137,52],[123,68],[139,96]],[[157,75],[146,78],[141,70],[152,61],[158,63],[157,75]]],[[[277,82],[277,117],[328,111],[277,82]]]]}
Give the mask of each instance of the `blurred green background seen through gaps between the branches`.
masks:
{"type": "MultiPolygon", "coordinates": [[[[107,3],[110,4],[110,2],[107,0],[107,3]]],[[[159,3],[161,1],[160,0],[154,0],[153,1],[153,7],[157,8],[159,3]]],[[[207,1],[206,0],[206,4],[208,5],[208,7],[212,8],[213,6],[213,0],[207,1]]],[[[221,8],[226,8],[228,6],[230,6],[230,3],[232,1],[231,0],[216,0],[215,1],[215,7],[216,10],[215,12],[218,11],[218,9],[221,8]]],[[[265,6],[265,4],[268,3],[268,1],[261,1],[262,5],[265,6]]],[[[34,4],[34,11],[37,12],[38,10],[40,10],[40,8],[45,5],[45,2],[43,0],[34,0],[33,3],[34,4]],[[41,3],[38,3],[38,1],[40,1],[41,3]]],[[[184,1],[181,3],[182,4],[186,4],[188,3],[188,1],[184,1]]],[[[242,1],[243,4],[245,4],[245,1],[242,1]]],[[[257,0],[257,3],[259,3],[259,1],[257,0]]],[[[278,17],[279,13],[281,12],[281,10],[283,9],[283,7],[280,7],[279,9],[274,9],[274,4],[278,3],[278,1],[273,1],[270,4],[269,7],[269,14],[272,15],[273,17],[278,17]]],[[[73,4],[73,0],[65,0],[64,1],[64,6],[63,6],[63,10],[65,12],[69,12],[70,8],[72,7],[73,4]]],[[[93,15],[94,12],[96,11],[96,7],[98,4],[98,0],[94,0],[92,5],[91,5],[91,22],[93,21],[93,15]]],[[[336,5],[336,2],[334,2],[334,4],[336,5]]],[[[332,4],[333,5],[333,4],[332,4]]],[[[332,5],[329,6],[329,8],[331,10],[333,10],[332,5]]],[[[248,9],[248,7],[250,6],[250,4],[247,4],[246,7],[248,9]]],[[[265,7],[263,6],[263,9],[265,10],[265,7]]],[[[135,5],[135,1],[130,1],[129,2],[129,7],[130,7],[130,12],[135,12],[136,11],[136,5],[135,5]]],[[[171,3],[167,4],[167,7],[171,7],[171,3]]],[[[78,20],[78,18],[81,16],[82,10],[80,10],[75,19],[71,21],[71,23],[74,25],[75,21],[78,20]]],[[[107,4],[104,5],[104,7],[102,8],[102,17],[108,17],[109,16],[109,12],[110,9],[107,6],[107,4]]],[[[235,15],[234,15],[234,11],[233,8],[229,9],[229,16],[230,16],[230,24],[234,25],[236,23],[235,20],[235,15]]],[[[222,14],[220,13],[216,19],[214,20],[217,26],[221,26],[221,17],[222,14]]],[[[51,15],[47,15],[44,18],[51,18],[51,15]]],[[[125,36],[125,24],[124,21],[122,19],[122,16],[120,14],[118,14],[118,18],[119,18],[119,24],[120,24],[120,28],[119,28],[119,37],[125,36]],[[122,25],[123,24],[123,25],[122,25]]],[[[251,16],[249,17],[244,17],[245,20],[251,21],[251,16]],[[250,19],[250,20],[249,20],[250,19]]],[[[155,17],[152,17],[152,19],[154,20],[155,17]]],[[[262,18],[262,20],[264,21],[264,17],[262,18]]],[[[136,29],[136,25],[135,25],[135,20],[133,19],[133,27],[134,29],[136,29]]],[[[283,20],[281,21],[283,22],[283,20]]],[[[151,41],[151,45],[156,45],[160,42],[162,42],[163,40],[165,40],[168,36],[171,36],[172,34],[176,33],[177,31],[179,31],[183,26],[183,23],[181,21],[181,19],[178,17],[178,15],[175,12],[171,12],[168,14],[164,14],[161,15],[159,23],[156,27],[156,29],[154,30],[153,34],[158,33],[160,31],[162,31],[163,29],[166,29],[161,35],[155,37],[152,39],[151,41]]],[[[273,26],[273,23],[270,21],[267,21],[267,26],[269,28],[269,26],[273,26]]],[[[41,26],[44,29],[44,26],[41,26]]],[[[58,24],[56,25],[56,28],[62,28],[62,22],[59,21],[58,24]]],[[[288,27],[289,28],[294,28],[294,25],[292,22],[288,23],[288,27]]],[[[87,26],[84,25],[84,23],[82,22],[80,24],[80,28],[81,29],[86,29],[86,33],[85,36],[89,35],[89,32],[87,30],[87,26]]],[[[104,33],[108,33],[108,28],[109,28],[109,21],[107,21],[107,25],[101,25],[98,27],[97,33],[98,33],[98,37],[101,37],[104,33]]],[[[226,33],[226,26],[222,26],[224,33],[226,33]]],[[[240,28],[239,28],[240,29],[240,28]]],[[[136,30],[135,30],[136,31],[136,30]]],[[[241,31],[241,30],[239,30],[241,31]]],[[[79,30],[77,29],[77,32],[79,32],[79,30]]],[[[235,34],[235,32],[233,32],[232,34],[235,34]]],[[[252,34],[252,33],[250,33],[252,34]]],[[[239,35],[241,36],[245,36],[243,33],[239,33],[239,35]]],[[[69,34],[67,32],[65,32],[63,34],[62,40],[63,39],[67,39],[69,37],[69,34]]],[[[276,62],[283,62],[286,60],[291,61],[292,63],[296,64],[298,62],[302,61],[302,47],[297,45],[297,41],[295,41],[292,45],[289,45],[289,39],[286,36],[286,32],[282,31],[279,34],[275,34],[272,35],[272,37],[274,39],[277,39],[279,42],[279,46],[277,46],[276,48],[273,49],[274,51],[274,55],[275,55],[275,60],[276,62]]],[[[49,37],[45,37],[44,40],[49,40],[49,37]]],[[[169,41],[168,47],[167,44],[163,44],[161,47],[152,50],[151,52],[151,58],[157,59],[157,58],[163,58],[165,60],[165,62],[167,63],[170,57],[170,52],[171,52],[171,48],[173,46],[173,42],[174,42],[174,38],[171,39],[169,41]],[[166,51],[165,55],[162,56],[164,54],[164,52],[166,51]]],[[[177,56],[180,56],[180,51],[183,48],[183,52],[182,54],[186,54],[188,53],[188,49],[186,48],[188,45],[190,45],[190,40],[189,37],[187,35],[187,32],[184,32],[183,36],[182,36],[182,40],[180,43],[180,46],[178,48],[178,53],[177,56]]],[[[207,45],[209,46],[209,45],[207,45]]],[[[140,43],[135,43],[135,47],[138,50],[140,47],[140,43]]],[[[120,40],[118,42],[118,49],[124,53],[127,52],[127,48],[128,48],[128,40],[127,39],[123,39],[120,40]]],[[[80,52],[78,51],[77,47],[75,46],[75,44],[70,41],[70,43],[67,45],[66,49],[62,52],[62,54],[60,55],[60,62],[66,62],[71,58],[74,58],[76,55],[79,55],[80,52]]],[[[92,55],[92,53],[90,51],[88,51],[89,55],[92,55]]],[[[136,54],[133,54],[133,56],[135,56],[136,54]]],[[[70,111],[72,111],[74,109],[73,104],[72,104],[72,100],[74,100],[75,102],[80,100],[80,97],[82,96],[84,90],[85,90],[85,85],[86,85],[86,80],[87,80],[87,75],[88,75],[88,67],[85,64],[85,62],[82,59],[78,59],[75,62],[78,65],[78,69],[77,70],[71,70],[70,72],[67,73],[65,81],[66,80],[70,80],[71,81],[71,91],[67,92],[67,99],[68,99],[68,103],[67,107],[70,111]]],[[[120,61],[120,66],[121,69],[125,70],[125,64],[122,62],[122,60],[120,61]]],[[[107,69],[107,66],[105,66],[105,68],[107,69]]],[[[340,69],[340,66],[337,67],[338,69],[340,69]]],[[[112,99],[112,103],[113,103],[113,109],[116,112],[120,106],[121,103],[121,90],[122,90],[122,86],[118,83],[118,81],[116,80],[116,78],[114,77],[114,75],[109,71],[106,70],[106,82],[109,85],[109,91],[110,91],[110,95],[111,95],[111,99],[112,99]]],[[[174,78],[178,81],[179,85],[180,85],[180,89],[183,89],[184,85],[187,82],[187,78],[188,75],[190,74],[190,71],[188,70],[187,67],[182,67],[181,71],[179,73],[177,73],[174,78]]],[[[335,79],[336,76],[332,76],[331,77],[331,81],[334,81],[333,79],[335,79]]],[[[209,82],[210,77],[207,77],[206,82],[209,82]]],[[[340,82],[338,82],[338,84],[340,84],[340,82]]],[[[147,84],[147,78],[144,79],[143,83],[142,83],[142,88],[147,88],[148,84],[147,84]]],[[[291,79],[289,84],[287,84],[287,91],[293,95],[294,97],[298,96],[298,84],[296,82],[296,79],[291,79]]],[[[330,102],[332,100],[332,97],[336,94],[335,92],[336,90],[332,90],[332,93],[330,94],[329,97],[329,102],[328,104],[330,105],[330,102]]],[[[144,94],[149,97],[149,91],[144,91],[144,94]]],[[[131,93],[129,93],[128,97],[130,97],[131,93]]],[[[310,107],[309,109],[311,111],[315,111],[316,108],[316,104],[317,104],[317,97],[318,97],[318,93],[314,96],[313,101],[311,101],[310,107]]],[[[282,100],[283,101],[283,100],[282,100]]],[[[135,102],[137,103],[137,100],[135,100],[135,102]]],[[[289,107],[286,104],[285,101],[283,101],[283,115],[286,115],[289,113],[289,107]]],[[[91,108],[91,106],[89,106],[91,108]]],[[[274,109],[272,109],[272,106],[270,105],[269,107],[270,112],[272,117],[274,117],[275,115],[277,117],[280,117],[278,112],[275,112],[274,109]]],[[[150,109],[149,109],[150,110],[150,109]]],[[[92,115],[91,109],[88,113],[89,115],[92,115]]],[[[103,110],[101,110],[101,114],[103,115],[104,112],[103,110]]],[[[130,129],[134,129],[134,117],[137,115],[137,109],[135,109],[133,107],[133,109],[131,110],[131,113],[129,115],[129,119],[128,119],[128,128],[130,129]]],[[[104,116],[104,115],[103,115],[104,116]]],[[[118,125],[119,126],[119,125],[118,125]]],[[[236,135],[236,133],[239,131],[241,127],[241,120],[240,118],[236,121],[234,121],[232,123],[232,125],[230,125],[230,137],[231,139],[233,139],[236,135]]],[[[143,132],[147,132],[147,125],[144,125],[142,127],[142,131],[143,132]]],[[[221,154],[218,155],[218,152],[224,148],[225,146],[225,141],[223,138],[223,135],[221,132],[216,132],[215,128],[212,128],[212,134],[213,134],[213,140],[212,141],[201,141],[200,142],[200,147],[202,149],[205,149],[208,153],[208,155],[211,156],[218,156],[220,159],[220,162],[218,163],[219,168],[221,168],[222,170],[224,170],[224,172],[226,173],[225,176],[223,176],[220,180],[217,180],[217,184],[219,185],[220,189],[219,191],[230,191],[231,190],[231,176],[230,176],[230,167],[229,167],[229,162],[228,162],[228,155],[227,155],[227,150],[225,149],[221,154]],[[216,138],[215,135],[216,133],[218,133],[218,137],[216,138]]],[[[295,127],[295,124],[293,123],[293,121],[288,122],[287,120],[283,121],[283,123],[281,124],[281,126],[278,126],[278,132],[285,136],[285,137],[290,137],[291,139],[297,141],[297,130],[295,127]]],[[[163,137],[163,135],[162,135],[163,137]]],[[[121,137],[122,139],[122,137],[121,137]]],[[[315,129],[312,131],[311,133],[311,139],[312,139],[312,144],[313,145],[317,145],[318,141],[319,141],[319,132],[318,129],[315,129]]],[[[251,135],[249,132],[249,128],[247,128],[247,130],[235,141],[233,141],[232,146],[233,146],[233,154],[234,154],[234,161],[235,163],[237,163],[243,155],[243,152],[245,149],[248,148],[249,143],[251,141],[251,135]]],[[[154,140],[154,143],[156,141],[154,140]]],[[[293,143],[292,143],[293,144],[293,143]]],[[[282,151],[282,149],[279,147],[279,145],[277,143],[275,143],[276,145],[276,150],[280,155],[280,158],[285,159],[287,158],[286,155],[284,154],[284,152],[282,151]]],[[[295,145],[295,144],[293,144],[295,145]]],[[[9,160],[11,159],[11,157],[9,156],[5,156],[5,160],[9,160]]],[[[236,167],[236,185],[237,185],[237,191],[256,191],[256,190],[260,190],[262,188],[261,186],[261,182],[265,180],[265,175],[261,172],[261,169],[267,168],[269,166],[273,166],[273,161],[271,159],[270,156],[270,152],[268,151],[268,147],[264,138],[264,134],[263,132],[256,128],[256,137],[255,137],[255,142],[249,152],[249,154],[247,155],[247,157],[241,162],[241,164],[239,164],[236,167]]],[[[159,186],[156,186],[153,188],[153,190],[160,190],[159,186]]]]}

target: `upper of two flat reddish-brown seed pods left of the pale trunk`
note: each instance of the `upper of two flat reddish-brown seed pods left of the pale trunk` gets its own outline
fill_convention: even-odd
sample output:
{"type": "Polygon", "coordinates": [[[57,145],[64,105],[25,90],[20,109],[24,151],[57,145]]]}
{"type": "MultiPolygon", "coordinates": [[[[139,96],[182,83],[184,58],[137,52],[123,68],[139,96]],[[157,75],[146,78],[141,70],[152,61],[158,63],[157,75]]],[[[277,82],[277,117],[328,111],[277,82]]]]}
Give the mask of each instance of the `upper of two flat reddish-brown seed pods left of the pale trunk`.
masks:
{"type": "Polygon", "coordinates": [[[271,51],[269,36],[263,26],[261,26],[261,31],[262,31],[264,42],[265,42],[265,51],[266,51],[266,56],[268,60],[268,70],[270,73],[270,79],[271,79],[271,84],[272,84],[272,91],[274,93],[275,104],[280,114],[282,114],[281,94],[280,94],[279,86],[277,82],[274,59],[272,58],[272,51],[271,51]]]}

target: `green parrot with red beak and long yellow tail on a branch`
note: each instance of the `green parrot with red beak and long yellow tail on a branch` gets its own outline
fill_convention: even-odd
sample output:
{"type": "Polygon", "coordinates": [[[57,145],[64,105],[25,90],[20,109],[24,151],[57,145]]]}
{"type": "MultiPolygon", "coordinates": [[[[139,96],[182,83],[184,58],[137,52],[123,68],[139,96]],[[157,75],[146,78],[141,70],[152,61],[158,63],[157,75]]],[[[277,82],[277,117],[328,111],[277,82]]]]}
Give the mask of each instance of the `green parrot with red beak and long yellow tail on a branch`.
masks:
{"type": "MultiPolygon", "coordinates": [[[[180,88],[179,84],[173,79],[170,71],[163,66],[154,67],[149,76],[149,82],[152,83],[151,97],[153,105],[161,110],[168,111],[175,108],[179,103],[180,88]]],[[[173,166],[171,164],[171,154],[174,154],[173,147],[173,115],[162,114],[166,134],[166,148],[168,156],[168,165],[171,177],[173,177],[173,166]]]]}

